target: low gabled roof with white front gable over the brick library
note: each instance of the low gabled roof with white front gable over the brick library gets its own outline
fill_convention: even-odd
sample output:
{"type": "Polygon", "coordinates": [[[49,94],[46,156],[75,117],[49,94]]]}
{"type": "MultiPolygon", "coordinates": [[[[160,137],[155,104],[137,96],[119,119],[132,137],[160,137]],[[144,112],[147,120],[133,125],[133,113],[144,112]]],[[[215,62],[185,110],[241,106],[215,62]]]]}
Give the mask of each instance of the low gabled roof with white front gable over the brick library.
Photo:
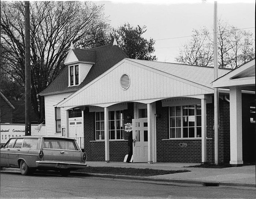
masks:
{"type": "MultiPolygon", "coordinates": [[[[228,71],[221,70],[223,73],[228,71]]],[[[213,94],[211,79],[213,79],[213,68],[210,67],[123,59],[89,84],[63,99],[57,107],[86,105],[108,107],[125,101],[152,103],[175,97],[200,98],[202,95],[213,94]],[[203,74],[206,76],[200,73],[201,69],[206,70],[203,74]],[[189,74],[193,70],[196,72],[189,74]],[[129,77],[126,79],[129,87],[126,89],[121,84],[124,74],[129,77]],[[208,80],[199,80],[205,78],[208,80]]]]}

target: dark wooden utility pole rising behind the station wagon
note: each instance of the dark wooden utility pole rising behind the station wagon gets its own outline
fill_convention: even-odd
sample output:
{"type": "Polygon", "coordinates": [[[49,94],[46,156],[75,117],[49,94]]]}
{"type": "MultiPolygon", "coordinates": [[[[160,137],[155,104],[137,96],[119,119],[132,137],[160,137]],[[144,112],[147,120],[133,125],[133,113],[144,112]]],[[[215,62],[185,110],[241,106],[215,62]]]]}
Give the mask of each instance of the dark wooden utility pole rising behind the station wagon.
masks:
{"type": "Polygon", "coordinates": [[[31,135],[30,3],[25,7],[25,135],[31,135]]]}

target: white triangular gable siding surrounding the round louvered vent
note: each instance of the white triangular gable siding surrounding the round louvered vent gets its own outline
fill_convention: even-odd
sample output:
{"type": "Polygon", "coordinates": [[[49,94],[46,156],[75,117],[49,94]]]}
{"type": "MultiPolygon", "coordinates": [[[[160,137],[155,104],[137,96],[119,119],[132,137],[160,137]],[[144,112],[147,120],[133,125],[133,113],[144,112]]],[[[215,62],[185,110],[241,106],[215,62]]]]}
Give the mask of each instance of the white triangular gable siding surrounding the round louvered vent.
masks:
{"type": "Polygon", "coordinates": [[[125,59],[67,98],[59,107],[160,99],[213,93],[213,89],[125,59]],[[121,77],[130,77],[123,90],[121,77]]]}

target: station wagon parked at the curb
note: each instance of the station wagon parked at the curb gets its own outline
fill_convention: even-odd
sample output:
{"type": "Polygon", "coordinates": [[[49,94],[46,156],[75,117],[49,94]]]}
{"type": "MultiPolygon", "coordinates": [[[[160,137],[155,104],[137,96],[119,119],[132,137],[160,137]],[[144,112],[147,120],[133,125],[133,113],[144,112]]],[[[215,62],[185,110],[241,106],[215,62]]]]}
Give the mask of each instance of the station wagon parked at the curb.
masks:
{"type": "Polygon", "coordinates": [[[20,168],[22,175],[35,170],[59,171],[62,176],[84,169],[86,153],[75,139],[54,136],[22,136],[10,138],[0,149],[0,166],[20,168]]]}

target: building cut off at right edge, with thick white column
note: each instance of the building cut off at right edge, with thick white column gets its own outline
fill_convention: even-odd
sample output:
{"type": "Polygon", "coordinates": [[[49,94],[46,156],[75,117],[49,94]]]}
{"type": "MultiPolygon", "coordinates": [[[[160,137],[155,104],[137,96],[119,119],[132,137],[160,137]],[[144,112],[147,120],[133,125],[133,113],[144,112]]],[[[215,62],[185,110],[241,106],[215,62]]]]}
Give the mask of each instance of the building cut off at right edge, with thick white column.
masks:
{"type": "Polygon", "coordinates": [[[255,96],[248,100],[242,93],[255,92],[255,59],[216,79],[213,87],[230,90],[230,164],[250,161],[255,157],[255,96]]]}

